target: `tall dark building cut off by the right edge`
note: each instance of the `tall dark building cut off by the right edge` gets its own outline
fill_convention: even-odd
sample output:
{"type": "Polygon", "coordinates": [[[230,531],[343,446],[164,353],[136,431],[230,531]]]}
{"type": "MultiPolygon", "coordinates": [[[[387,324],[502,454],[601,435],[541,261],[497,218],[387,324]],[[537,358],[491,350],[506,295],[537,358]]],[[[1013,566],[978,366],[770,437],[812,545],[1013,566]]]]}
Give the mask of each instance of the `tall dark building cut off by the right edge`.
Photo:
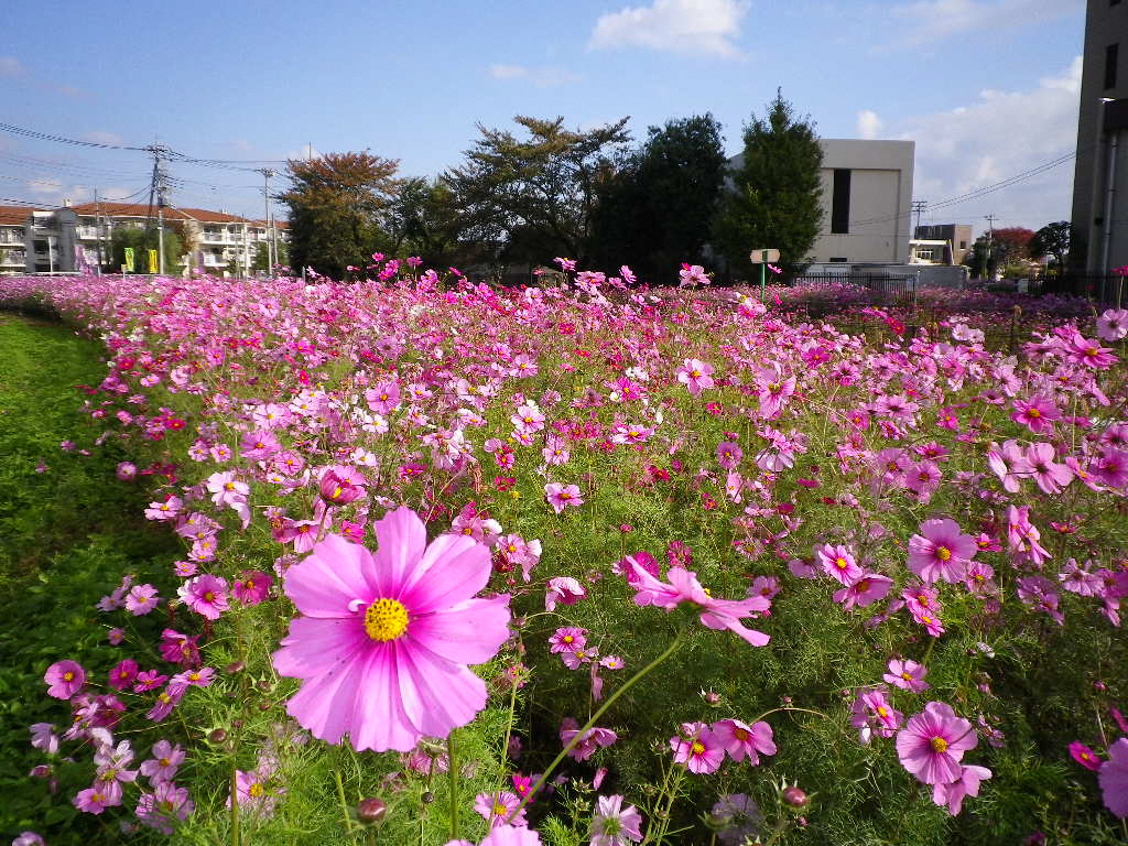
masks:
{"type": "Polygon", "coordinates": [[[1069,264],[1128,265],[1128,2],[1089,0],[1069,264]]]}

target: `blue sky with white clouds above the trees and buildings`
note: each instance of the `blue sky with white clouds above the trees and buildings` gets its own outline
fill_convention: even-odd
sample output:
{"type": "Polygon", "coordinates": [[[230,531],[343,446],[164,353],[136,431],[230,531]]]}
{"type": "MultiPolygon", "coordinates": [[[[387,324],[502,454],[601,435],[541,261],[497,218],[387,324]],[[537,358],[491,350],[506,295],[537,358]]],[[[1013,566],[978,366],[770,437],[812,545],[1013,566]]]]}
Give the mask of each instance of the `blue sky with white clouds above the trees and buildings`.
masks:
{"type": "MultiPolygon", "coordinates": [[[[370,149],[431,176],[517,114],[629,115],[641,138],[712,112],[732,155],[782,87],[822,136],[914,139],[935,204],[1073,152],[1083,29],[1083,0],[39,0],[5,10],[0,122],[247,168],[370,149]]],[[[170,169],[174,204],[262,213],[257,174],[170,169]]],[[[0,197],[147,200],[148,177],[141,153],[0,132],[0,197]]],[[[923,221],[1037,228],[1068,219],[1072,182],[1066,161],[923,221]]]]}

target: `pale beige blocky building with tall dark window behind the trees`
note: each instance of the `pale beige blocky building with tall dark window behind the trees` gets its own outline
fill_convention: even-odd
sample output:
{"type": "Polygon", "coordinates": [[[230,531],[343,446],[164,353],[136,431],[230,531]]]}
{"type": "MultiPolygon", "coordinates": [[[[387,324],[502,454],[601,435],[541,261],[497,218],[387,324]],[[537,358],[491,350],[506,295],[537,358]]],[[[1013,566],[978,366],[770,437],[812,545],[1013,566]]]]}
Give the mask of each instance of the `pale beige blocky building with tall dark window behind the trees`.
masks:
{"type": "Polygon", "coordinates": [[[913,204],[914,141],[821,139],[822,226],[812,261],[906,263],[913,204]],[[847,232],[830,231],[834,171],[851,171],[847,232]]]}

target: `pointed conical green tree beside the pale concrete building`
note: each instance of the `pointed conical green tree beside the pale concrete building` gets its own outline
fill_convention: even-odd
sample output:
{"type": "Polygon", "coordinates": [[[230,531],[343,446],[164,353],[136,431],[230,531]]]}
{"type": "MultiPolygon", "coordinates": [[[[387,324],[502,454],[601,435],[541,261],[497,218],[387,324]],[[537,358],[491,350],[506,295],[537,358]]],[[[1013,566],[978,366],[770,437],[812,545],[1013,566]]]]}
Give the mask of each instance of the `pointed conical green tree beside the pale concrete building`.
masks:
{"type": "Polygon", "coordinates": [[[822,148],[810,116],[796,120],[779,92],[766,120],[744,126],[744,151],[713,228],[714,244],[738,275],[748,275],[751,249],[779,250],[790,268],[802,265],[822,220],[822,148]]]}

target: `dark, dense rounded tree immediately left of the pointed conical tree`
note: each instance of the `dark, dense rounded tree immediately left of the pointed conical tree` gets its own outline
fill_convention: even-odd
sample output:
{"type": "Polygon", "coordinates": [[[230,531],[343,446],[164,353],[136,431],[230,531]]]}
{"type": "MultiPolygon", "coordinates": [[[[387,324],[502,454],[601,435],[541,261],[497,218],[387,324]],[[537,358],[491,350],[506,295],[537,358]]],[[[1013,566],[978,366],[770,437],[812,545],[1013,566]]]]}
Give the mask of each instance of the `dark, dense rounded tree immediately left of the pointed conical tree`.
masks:
{"type": "Polygon", "coordinates": [[[651,126],[645,143],[600,186],[592,222],[596,266],[629,264],[659,281],[700,263],[724,185],[721,124],[695,115],[651,126]]]}

